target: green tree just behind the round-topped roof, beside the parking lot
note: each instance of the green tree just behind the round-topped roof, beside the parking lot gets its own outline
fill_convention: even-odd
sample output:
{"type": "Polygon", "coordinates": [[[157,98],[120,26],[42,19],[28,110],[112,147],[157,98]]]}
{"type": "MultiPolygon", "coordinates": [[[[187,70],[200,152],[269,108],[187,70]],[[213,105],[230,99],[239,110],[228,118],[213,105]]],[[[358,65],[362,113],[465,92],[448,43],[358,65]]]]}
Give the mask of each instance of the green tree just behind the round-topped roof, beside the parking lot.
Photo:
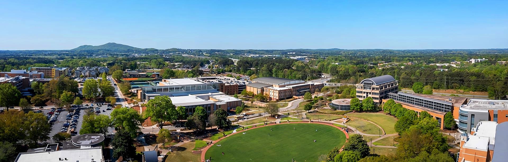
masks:
{"type": "Polygon", "coordinates": [[[108,115],[84,115],[83,124],[81,126],[81,130],[79,130],[79,134],[102,133],[106,136],[108,128],[111,127],[111,122],[112,121],[108,115]]]}

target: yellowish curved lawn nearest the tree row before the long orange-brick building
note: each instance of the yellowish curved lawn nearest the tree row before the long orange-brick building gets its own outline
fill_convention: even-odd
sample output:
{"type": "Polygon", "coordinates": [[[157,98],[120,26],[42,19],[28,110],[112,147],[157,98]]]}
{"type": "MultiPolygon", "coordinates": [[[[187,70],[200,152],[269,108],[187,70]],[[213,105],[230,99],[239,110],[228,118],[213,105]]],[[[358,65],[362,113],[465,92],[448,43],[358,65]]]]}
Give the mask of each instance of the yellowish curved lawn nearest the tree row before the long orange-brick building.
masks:
{"type": "Polygon", "coordinates": [[[395,132],[395,122],[397,122],[397,118],[382,114],[382,113],[372,113],[372,112],[362,112],[362,113],[347,113],[347,116],[358,117],[362,119],[366,119],[372,121],[377,124],[383,130],[385,130],[386,134],[396,134],[395,132]]]}

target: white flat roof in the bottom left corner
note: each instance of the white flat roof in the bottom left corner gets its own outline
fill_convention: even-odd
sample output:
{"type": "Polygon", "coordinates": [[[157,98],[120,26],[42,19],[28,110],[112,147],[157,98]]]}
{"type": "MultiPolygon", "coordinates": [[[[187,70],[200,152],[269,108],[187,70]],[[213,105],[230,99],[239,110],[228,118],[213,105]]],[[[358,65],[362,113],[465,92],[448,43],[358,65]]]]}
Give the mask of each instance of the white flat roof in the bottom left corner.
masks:
{"type": "Polygon", "coordinates": [[[16,162],[53,162],[53,161],[103,161],[102,148],[70,149],[48,152],[23,152],[16,157],[16,162]],[[66,160],[67,159],[67,160],[66,160]]]}

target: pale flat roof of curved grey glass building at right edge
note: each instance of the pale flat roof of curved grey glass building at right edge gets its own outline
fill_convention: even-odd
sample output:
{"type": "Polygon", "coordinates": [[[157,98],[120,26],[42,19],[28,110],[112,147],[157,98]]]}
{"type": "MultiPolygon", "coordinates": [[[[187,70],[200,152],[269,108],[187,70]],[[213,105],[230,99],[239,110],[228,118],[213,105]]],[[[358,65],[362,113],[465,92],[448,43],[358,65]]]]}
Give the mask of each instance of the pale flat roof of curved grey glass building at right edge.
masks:
{"type": "Polygon", "coordinates": [[[465,111],[508,110],[508,100],[470,99],[467,105],[460,106],[465,111]]]}

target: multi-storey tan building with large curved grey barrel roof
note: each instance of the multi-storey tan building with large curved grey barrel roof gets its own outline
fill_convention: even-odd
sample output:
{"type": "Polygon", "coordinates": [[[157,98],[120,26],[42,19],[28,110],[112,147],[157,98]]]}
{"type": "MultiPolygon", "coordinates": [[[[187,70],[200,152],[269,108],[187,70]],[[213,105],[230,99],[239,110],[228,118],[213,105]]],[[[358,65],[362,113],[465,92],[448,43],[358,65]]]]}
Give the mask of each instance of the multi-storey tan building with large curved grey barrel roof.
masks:
{"type": "Polygon", "coordinates": [[[363,79],[357,84],[356,97],[360,100],[372,97],[375,104],[381,104],[388,93],[396,93],[398,90],[399,81],[392,75],[382,75],[363,79]]]}

